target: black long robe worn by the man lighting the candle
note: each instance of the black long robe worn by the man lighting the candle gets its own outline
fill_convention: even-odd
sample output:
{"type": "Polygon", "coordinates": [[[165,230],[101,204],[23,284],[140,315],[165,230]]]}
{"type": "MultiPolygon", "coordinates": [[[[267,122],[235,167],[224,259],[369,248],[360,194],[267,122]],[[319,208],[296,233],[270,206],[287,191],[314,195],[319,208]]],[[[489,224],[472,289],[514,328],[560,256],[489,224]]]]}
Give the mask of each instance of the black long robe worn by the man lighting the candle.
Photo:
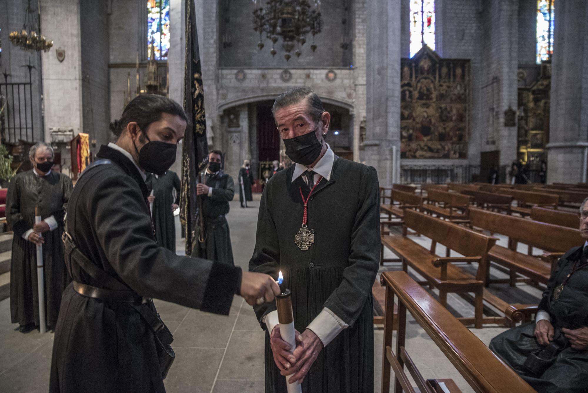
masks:
{"type": "MultiPolygon", "coordinates": [[[[83,254],[143,297],[229,314],[240,269],[158,247],[139,170],[108,146],[97,157],[113,164],[82,174],[67,209],[68,231],[83,254]]],[[[68,270],[75,281],[99,286],[78,265],[68,270]]],[[[131,305],[83,297],[69,285],[55,329],[49,392],[165,392],[153,339],[131,305]]]]}

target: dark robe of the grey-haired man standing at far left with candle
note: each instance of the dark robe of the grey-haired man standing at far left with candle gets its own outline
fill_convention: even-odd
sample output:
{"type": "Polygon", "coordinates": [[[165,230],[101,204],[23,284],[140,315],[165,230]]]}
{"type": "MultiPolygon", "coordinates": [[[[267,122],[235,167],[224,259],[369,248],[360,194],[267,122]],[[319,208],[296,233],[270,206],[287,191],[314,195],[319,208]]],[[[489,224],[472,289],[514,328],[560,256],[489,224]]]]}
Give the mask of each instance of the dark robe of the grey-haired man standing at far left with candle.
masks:
{"type": "Polygon", "coordinates": [[[61,294],[69,283],[65,269],[64,214],[72,192],[71,179],[58,172],[37,176],[32,169],[12,178],[6,196],[6,219],[14,231],[10,269],[10,311],[12,323],[35,322],[39,328],[36,245],[22,238],[35,225],[35,206],[41,207],[41,219],[55,217],[58,227],[45,232],[43,263],[46,324],[54,327],[59,314],[61,294]]]}

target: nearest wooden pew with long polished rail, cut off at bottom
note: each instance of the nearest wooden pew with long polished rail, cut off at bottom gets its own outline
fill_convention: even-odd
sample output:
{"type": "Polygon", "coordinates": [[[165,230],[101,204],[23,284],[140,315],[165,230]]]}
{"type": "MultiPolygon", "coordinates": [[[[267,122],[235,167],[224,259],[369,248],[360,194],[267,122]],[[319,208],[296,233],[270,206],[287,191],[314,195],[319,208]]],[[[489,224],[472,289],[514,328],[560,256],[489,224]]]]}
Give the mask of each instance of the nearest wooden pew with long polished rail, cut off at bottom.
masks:
{"type": "Polygon", "coordinates": [[[451,393],[460,392],[451,380],[423,378],[410,358],[406,345],[406,311],[441,349],[466,382],[477,393],[536,393],[513,369],[502,362],[469,329],[464,327],[439,302],[405,272],[383,272],[386,287],[386,324],[383,338],[382,393],[390,391],[390,371],[394,371],[395,392],[436,393],[439,382],[446,382],[451,393]],[[393,306],[397,298],[397,314],[393,306]],[[392,351],[393,325],[397,322],[396,353],[392,351]],[[412,375],[417,389],[407,377],[412,375]]]}

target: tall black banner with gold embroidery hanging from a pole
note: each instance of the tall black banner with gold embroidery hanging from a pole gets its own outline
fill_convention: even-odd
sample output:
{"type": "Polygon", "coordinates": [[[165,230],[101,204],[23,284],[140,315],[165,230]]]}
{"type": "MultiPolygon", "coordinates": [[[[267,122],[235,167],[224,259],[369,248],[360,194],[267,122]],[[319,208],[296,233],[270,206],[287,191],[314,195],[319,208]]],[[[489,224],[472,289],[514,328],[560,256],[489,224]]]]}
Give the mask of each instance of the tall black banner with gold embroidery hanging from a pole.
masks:
{"type": "Polygon", "coordinates": [[[183,106],[191,124],[186,129],[182,148],[182,191],[180,193],[180,220],[186,237],[186,255],[192,255],[198,245],[198,168],[208,157],[206,141],[206,116],[202,67],[196,32],[194,0],[186,1],[186,63],[184,68],[183,106]]]}

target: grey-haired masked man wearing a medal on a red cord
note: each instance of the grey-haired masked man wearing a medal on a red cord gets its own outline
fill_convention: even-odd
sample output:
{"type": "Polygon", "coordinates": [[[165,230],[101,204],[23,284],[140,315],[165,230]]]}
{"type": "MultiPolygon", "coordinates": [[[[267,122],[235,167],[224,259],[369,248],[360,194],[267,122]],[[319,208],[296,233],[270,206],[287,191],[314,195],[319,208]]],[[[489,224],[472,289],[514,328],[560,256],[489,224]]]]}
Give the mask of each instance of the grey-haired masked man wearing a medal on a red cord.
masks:
{"type": "Polygon", "coordinates": [[[370,166],[335,156],[330,114],[306,88],[280,95],[272,112],[296,164],[263,191],[249,270],[282,271],[292,291],[298,348],[280,337],[275,304],[254,307],[266,329],[265,391],[373,392],[372,285],[379,267],[378,181],[370,166]],[[304,214],[306,205],[306,215],[304,214]],[[306,218],[306,220],[305,220],[306,218]]]}

